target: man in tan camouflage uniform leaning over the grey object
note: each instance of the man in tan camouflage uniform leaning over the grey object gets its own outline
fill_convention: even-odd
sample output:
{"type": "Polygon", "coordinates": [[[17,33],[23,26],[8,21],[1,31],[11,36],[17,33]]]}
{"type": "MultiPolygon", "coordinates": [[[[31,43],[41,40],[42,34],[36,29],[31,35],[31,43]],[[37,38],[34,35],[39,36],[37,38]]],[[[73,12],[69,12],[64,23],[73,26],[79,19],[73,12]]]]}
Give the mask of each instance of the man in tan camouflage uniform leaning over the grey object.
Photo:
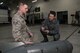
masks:
{"type": "Polygon", "coordinates": [[[15,41],[20,41],[25,44],[32,44],[31,38],[33,34],[29,30],[24,20],[24,14],[28,11],[28,6],[24,3],[19,4],[17,13],[12,18],[12,35],[15,41]]]}

